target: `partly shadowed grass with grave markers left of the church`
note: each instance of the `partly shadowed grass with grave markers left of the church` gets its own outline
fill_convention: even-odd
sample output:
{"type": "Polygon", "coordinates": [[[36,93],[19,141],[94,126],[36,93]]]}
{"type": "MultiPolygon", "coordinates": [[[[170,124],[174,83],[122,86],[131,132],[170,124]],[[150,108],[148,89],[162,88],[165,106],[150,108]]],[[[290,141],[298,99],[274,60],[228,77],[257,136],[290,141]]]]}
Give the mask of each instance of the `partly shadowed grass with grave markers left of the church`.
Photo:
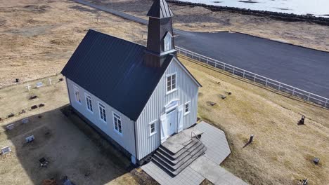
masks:
{"type": "Polygon", "coordinates": [[[0,184],[41,184],[44,179],[65,175],[75,184],[137,184],[129,172],[127,158],[91,128],[79,127],[85,125],[81,120],[64,116],[60,109],[69,101],[65,81],[59,82],[60,76],[51,78],[53,85],[45,83],[46,86],[30,92],[25,88],[27,84],[0,90],[0,147],[12,149],[0,156],[0,184]],[[29,100],[31,95],[38,97],[29,100]],[[45,106],[30,108],[39,104],[45,106]],[[18,114],[22,109],[25,113],[18,114]],[[15,116],[6,118],[11,113],[15,116]],[[29,118],[30,122],[22,124],[22,118],[29,118]],[[10,123],[15,128],[6,131],[10,123]],[[34,135],[35,141],[25,144],[25,137],[30,135],[34,135]],[[49,160],[48,167],[39,166],[42,157],[49,160]]]}

